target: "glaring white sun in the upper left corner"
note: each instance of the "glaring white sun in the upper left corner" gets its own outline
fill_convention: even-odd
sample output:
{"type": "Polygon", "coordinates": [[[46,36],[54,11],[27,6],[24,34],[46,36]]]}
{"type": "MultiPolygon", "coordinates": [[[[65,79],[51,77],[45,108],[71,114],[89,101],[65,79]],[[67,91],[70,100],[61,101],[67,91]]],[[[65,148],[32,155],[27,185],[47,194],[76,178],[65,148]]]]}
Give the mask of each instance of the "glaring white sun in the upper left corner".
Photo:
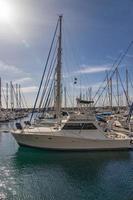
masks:
{"type": "Polygon", "coordinates": [[[10,23],[13,20],[13,10],[9,3],[0,2],[0,21],[10,23]]]}

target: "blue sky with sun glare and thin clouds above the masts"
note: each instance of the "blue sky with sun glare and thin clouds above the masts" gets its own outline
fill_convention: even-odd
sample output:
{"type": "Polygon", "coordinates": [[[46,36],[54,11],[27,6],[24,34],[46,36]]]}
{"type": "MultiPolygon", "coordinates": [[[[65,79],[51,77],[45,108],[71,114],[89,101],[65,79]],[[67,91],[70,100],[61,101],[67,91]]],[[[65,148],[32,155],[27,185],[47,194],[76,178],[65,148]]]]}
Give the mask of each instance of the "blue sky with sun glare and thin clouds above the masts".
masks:
{"type": "MultiPolygon", "coordinates": [[[[0,0],[3,88],[9,81],[21,84],[33,106],[58,15],[63,14],[63,87],[71,97],[89,87],[94,95],[105,72],[133,40],[132,8],[133,0],[0,0]]],[[[132,79],[132,65],[133,46],[119,66],[123,84],[126,67],[132,79]]],[[[113,86],[116,93],[115,80],[113,86]]]]}

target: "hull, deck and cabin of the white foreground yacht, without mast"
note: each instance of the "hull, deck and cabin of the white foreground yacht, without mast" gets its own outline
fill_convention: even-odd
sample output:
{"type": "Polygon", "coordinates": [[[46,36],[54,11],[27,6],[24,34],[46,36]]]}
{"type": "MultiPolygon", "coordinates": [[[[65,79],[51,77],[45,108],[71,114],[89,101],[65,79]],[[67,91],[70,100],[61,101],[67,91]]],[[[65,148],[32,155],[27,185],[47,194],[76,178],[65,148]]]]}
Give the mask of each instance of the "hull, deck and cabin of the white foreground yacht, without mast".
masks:
{"type": "Polygon", "coordinates": [[[128,132],[105,130],[96,120],[69,119],[65,124],[28,126],[12,132],[19,145],[53,150],[130,149],[128,132]]]}

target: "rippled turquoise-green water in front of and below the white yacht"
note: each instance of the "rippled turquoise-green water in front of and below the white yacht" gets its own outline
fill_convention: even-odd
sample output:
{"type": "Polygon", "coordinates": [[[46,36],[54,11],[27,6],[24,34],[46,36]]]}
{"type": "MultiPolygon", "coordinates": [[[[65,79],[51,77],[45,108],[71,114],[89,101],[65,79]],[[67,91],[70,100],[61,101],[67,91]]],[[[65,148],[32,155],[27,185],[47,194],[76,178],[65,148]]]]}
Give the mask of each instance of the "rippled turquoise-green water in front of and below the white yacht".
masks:
{"type": "Polygon", "coordinates": [[[133,151],[19,148],[0,133],[0,199],[132,200],[133,151]]]}

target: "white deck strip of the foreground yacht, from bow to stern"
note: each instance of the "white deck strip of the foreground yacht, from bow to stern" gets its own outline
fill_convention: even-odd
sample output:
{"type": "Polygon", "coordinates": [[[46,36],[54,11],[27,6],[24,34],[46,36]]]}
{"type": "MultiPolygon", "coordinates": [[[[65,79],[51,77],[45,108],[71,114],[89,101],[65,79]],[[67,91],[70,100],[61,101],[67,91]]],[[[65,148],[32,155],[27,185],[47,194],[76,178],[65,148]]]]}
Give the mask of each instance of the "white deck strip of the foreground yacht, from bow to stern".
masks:
{"type": "Polygon", "coordinates": [[[64,136],[64,137],[74,137],[74,138],[83,138],[83,139],[92,139],[92,140],[122,140],[129,139],[129,137],[120,132],[102,132],[99,129],[96,130],[62,130],[55,127],[30,127],[24,130],[15,130],[16,134],[24,135],[50,135],[50,136],[64,136]]]}

